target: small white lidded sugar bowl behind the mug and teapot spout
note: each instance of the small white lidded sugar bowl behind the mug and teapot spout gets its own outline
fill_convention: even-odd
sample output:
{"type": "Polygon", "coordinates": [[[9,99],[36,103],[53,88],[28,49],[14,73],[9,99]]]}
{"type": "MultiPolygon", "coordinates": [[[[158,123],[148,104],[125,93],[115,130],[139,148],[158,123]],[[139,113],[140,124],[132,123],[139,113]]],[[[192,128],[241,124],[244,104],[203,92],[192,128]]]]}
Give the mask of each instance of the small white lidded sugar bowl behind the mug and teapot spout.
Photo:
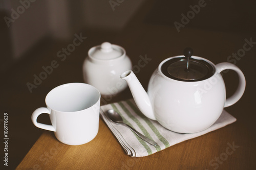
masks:
{"type": "Polygon", "coordinates": [[[109,42],[92,47],[83,63],[83,80],[96,87],[101,95],[116,95],[127,87],[120,79],[132,62],[123,47],[109,42]]]}

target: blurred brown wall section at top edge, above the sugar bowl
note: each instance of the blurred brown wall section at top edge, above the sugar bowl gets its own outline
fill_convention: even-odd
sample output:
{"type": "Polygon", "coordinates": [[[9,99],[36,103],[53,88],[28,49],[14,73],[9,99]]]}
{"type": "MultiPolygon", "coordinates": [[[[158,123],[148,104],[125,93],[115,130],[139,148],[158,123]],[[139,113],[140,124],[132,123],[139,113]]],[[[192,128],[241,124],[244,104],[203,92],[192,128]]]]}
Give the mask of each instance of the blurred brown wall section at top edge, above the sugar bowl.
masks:
{"type": "Polygon", "coordinates": [[[146,0],[83,1],[86,26],[120,30],[146,0]]]}

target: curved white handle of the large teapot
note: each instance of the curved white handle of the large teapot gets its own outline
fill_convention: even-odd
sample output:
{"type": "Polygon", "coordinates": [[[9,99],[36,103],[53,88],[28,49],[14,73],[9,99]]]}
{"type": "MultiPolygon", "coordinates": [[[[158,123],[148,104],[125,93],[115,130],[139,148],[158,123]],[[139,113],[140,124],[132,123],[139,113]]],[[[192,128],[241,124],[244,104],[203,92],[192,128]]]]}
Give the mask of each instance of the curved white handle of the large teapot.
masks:
{"type": "Polygon", "coordinates": [[[216,64],[217,71],[220,73],[221,71],[225,69],[231,69],[237,72],[238,78],[239,78],[239,84],[237,90],[231,95],[228,99],[226,99],[224,107],[231,106],[239,101],[239,99],[242,97],[244,90],[245,90],[245,77],[243,72],[241,71],[238,66],[224,62],[224,63],[219,63],[216,64]]]}

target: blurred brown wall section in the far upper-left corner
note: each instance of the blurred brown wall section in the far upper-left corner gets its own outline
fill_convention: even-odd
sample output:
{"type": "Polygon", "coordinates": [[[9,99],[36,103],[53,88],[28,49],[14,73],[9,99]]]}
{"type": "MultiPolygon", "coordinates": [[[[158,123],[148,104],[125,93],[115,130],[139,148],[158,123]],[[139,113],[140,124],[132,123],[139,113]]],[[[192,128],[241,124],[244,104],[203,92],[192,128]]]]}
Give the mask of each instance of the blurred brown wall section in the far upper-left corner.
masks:
{"type": "Polygon", "coordinates": [[[47,34],[46,10],[45,1],[1,1],[1,72],[47,34]]]}

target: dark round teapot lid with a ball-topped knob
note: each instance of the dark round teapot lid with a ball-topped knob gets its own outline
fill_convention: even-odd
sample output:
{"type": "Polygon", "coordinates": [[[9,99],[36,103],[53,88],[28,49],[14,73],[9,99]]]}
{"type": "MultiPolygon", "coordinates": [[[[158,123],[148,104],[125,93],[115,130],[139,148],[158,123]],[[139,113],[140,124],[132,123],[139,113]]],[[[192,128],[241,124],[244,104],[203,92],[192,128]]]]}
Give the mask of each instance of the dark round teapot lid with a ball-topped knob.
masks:
{"type": "Polygon", "coordinates": [[[185,48],[184,57],[170,59],[161,66],[162,73],[168,78],[193,82],[208,79],[214,75],[215,69],[205,60],[190,58],[191,48],[185,48]]]}

